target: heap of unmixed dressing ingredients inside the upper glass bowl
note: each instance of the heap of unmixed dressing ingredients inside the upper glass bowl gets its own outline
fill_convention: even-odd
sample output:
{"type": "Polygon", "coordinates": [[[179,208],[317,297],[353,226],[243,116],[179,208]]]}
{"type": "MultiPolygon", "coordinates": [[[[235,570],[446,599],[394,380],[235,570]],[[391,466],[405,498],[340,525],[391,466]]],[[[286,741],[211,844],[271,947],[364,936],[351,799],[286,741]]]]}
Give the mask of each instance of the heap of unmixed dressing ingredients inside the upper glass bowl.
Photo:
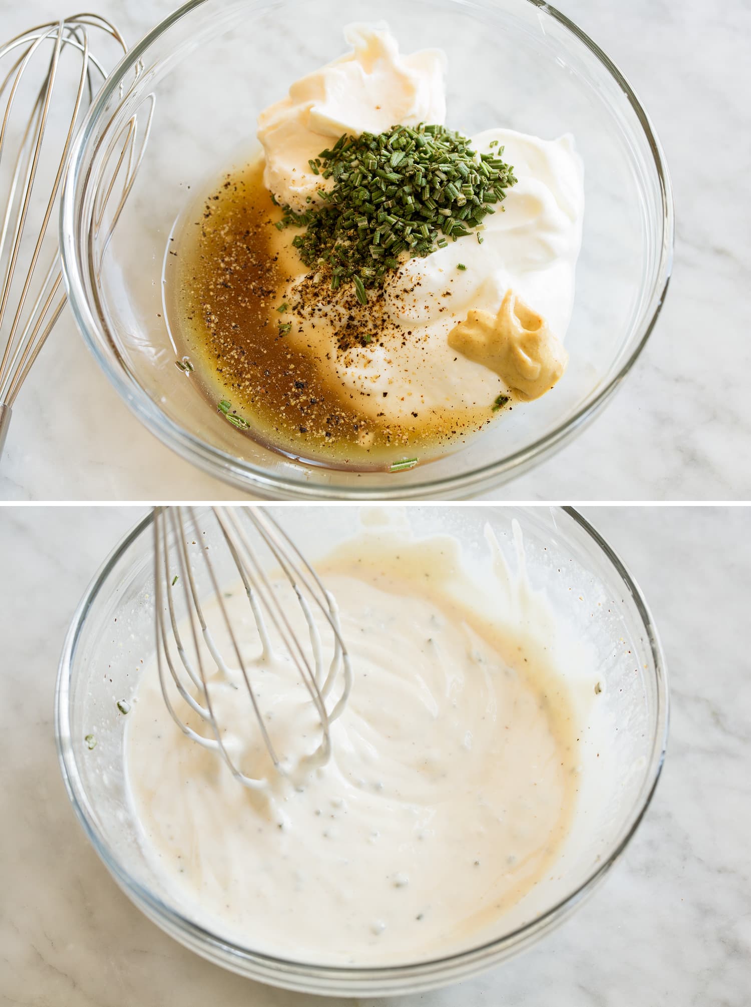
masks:
{"type": "Polygon", "coordinates": [[[563,376],[584,212],[570,135],[445,125],[446,57],[386,25],[292,85],[262,151],[178,222],[180,359],[243,434],[291,456],[409,468],[563,376]]]}

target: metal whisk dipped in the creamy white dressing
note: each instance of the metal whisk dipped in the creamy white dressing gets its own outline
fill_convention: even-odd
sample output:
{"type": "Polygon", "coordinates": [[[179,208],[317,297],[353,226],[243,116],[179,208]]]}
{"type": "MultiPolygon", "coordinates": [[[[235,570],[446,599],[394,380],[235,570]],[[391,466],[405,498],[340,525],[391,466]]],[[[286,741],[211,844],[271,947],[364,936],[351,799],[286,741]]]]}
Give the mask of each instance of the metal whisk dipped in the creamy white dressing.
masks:
{"type": "MultiPolygon", "coordinates": [[[[280,757],[270,736],[260,708],[253,681],[253,660],[244,642],[243,627],[231,617],[223,588],[227,571],[240,577],[249,611],[257,629],[261,658],[273,659],[275,648],[292,663],[304,684],[320,721],[321,740],[316,750],[300,760],[300,765],[323,765],[331,753],[330,725],[344,710],[352,684],[352,671],[346,645],[341,636],[336,602],[321,583],[318,574],[300,553],[278,523],[261,508],[212,508],[211,516],[218,532],[217,545],[204,545],[206,539],[192,508],[154,509],[154,578],[155,632],[159,683],[164,702],[180,730],[191,740],[216,751],[233,775],[245,786],[263,787],[267,779],[247,775],[237,765],[223,740],[222,724],[217,722],[211,700],[209,680],[215,674],[226,676],[228,669],[240,671],[255,713],[258,730],[271,759],[281,772],[287,772],[287,760],[280,757]],[[170,548],[171,540],[171,548],[170,548]],[[291,598],[281,592],[268,572],[269,562],[278,575],[291,585],[307,626],[307,642],[301,639],[289,611],[291,598]],[[218,567],[224,571],[219,583],[218,567]],[[202,595],[198,582],[209,590],[202,595]],[[216,613],[216,607],[218,613],[216,613]],[[214,611],[214,626],[222,629],[229,640],[221,654],[207,624],[214,611]],[[332,656],[324,659],[321,631],[315,612],[322,615],[322,628],[330,636],[332,656]],[[275,642],[272,643],[272,633],[275,642]],[[278,642],[277,642],[278,641],[278,642]],[[176,689],[187,710],[197,714],[205,733],[194,730],[175,710],[169,684],[176,689]]],[[[278,655],[279,656],[279,655],[278,655]]],[[[238,702],[241,700],[238,696],[238,702]]]]}

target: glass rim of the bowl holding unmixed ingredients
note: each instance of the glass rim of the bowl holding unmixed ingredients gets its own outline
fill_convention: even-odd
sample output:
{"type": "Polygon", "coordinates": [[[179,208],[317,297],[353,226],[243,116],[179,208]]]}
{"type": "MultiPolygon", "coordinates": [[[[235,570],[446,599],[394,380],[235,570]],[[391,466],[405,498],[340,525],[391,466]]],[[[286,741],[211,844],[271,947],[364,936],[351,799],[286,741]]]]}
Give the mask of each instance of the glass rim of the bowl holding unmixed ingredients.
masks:
{"type": "MultiPolygon", "coordinates": [[[[626,375],[638,359],[656,323],[660,308],[667,292],[672,270],[672,247],[674,238],[674,218],[672,190],[664,154],[652,127],[651,121],[636,94],[618,66],[606,53],[570,18],[566,17],[545,0],[524,0],[538,8],[541,14],[551,16],[571,32],[599,60],[606,71],[625,95],[646,138],[652,162],[656,170],[662,205],[661,241],[659,255],[652,280],[652,296],[645,305],[641,332],[637,335],[627,359],[599,392],[584,403],[569,419],[557,424],[552,430],[533,443],[521,447],[512,454],[497,461],[465,470],[453,475],[430,478],[431,466],[425,466],[426,477],[419,481],[402,483],[395,481],[379,486],[357,485],[330,486],[326,483],[309,481],[306,472],[275,473],[273,470],[246,461],[223,449],[196,437],[190,431],[167,416],[148,395],[131,373],[123,366],[117,351],[114,351],[106,327],[96,316],[86,295],[85,275],[91,282],[93,269],[87,249],[80,241],[81,229],[77,227],[80,217],[80,200],[77,192],[86,186],[89,158],[85,158],[89,137],[106,109],[111,96],[120,87],[126,75],[130,75],[149,46],[177,21],[192,10],[210,0],[189,0],[168,17],[164,18],[120,60],[95,98],[84,120],[70,151],[63,180],[59,213],[59,247],[62,275],[70,308],[84,341],[110,383],[125,401],[131,412],[163,444],[171,448],[186,461],[249,493],[275,499],[430,499],[457,498],[477,493],[521,474],[544,457],[563,447],[565,443],[585,428],[595,415],[605,406],[626,375]],[[82,182],[82,176],[84,181],[82,182]]],[[[462,0],[456,0],[461,3],[462,0]]],[[[459,449],[459,452],[461,449],[459,449]]],[[[422,466],[420,466],[421,468],[422,466]]],[[[417,471],[420,471],[420,468],[417,471]]],[[[394,473],[398,479],[399,473],[394,473]]]]}

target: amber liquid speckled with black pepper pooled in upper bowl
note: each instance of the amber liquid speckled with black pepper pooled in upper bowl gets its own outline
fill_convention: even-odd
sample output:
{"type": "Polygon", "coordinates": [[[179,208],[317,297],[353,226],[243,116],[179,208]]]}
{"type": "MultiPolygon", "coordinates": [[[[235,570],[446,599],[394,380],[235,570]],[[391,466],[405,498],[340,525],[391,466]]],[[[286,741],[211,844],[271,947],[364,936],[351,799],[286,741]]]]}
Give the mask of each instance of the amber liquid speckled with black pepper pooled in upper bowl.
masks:
{"type": "MultiPolygon", "coordinates": [[[[165,303],[180,356],[203,395],[246,421],[266,447],[313,464],[388,469],[455,450],[489,422],[428,415],[412,427],[363,415],[316,366],[311,347],[285,337],[281,292],[304,268],[280,253],[282,211],[263,185],[263,161],[228,173],[188,207],[170,239],[165,303]]],[[[228,421],[229,422],[229,421],[228,421]]]]}

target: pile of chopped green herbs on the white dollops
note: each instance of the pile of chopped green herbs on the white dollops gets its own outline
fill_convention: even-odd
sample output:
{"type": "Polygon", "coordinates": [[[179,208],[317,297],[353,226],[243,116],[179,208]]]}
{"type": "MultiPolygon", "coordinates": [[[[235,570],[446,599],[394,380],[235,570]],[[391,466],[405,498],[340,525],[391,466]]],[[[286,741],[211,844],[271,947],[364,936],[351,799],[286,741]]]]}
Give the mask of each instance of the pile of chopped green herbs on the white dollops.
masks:
{"type": "Polygon", "coordinates": [[[502,152],[477,155],[466,137],[444,126],[345,134],[310,161],[314,174],[334,181],[318,190],[321,204],[304,213],[284,206],[277,227],[304,227],[292,243],[303,263],[327,264],[334,290],[353,280],[364,304],[365,287],[383,283],[401,253],[430,255],[494,212],[516,181],[502,152]]]}

